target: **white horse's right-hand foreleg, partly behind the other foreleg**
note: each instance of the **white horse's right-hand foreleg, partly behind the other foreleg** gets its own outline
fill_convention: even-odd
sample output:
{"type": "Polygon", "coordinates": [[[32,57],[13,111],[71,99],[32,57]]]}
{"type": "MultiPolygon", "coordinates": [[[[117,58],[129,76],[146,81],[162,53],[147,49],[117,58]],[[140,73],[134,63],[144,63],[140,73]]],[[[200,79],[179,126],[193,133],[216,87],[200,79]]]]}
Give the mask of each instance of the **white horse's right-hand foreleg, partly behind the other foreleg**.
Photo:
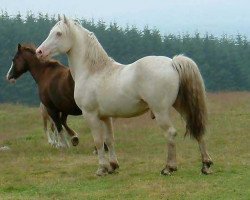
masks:
{"type": "Polygon", "coordinates": [[[119,168],[116,153],[115,153],[115,147],[114,147],[114,132],[113,132],[113,123],[112,118],[106,118],[103,120],[105,125],[105,144],[108,147],[109,150],[109,163],[112,167],[113,171],[115,169],[119,168]]]}

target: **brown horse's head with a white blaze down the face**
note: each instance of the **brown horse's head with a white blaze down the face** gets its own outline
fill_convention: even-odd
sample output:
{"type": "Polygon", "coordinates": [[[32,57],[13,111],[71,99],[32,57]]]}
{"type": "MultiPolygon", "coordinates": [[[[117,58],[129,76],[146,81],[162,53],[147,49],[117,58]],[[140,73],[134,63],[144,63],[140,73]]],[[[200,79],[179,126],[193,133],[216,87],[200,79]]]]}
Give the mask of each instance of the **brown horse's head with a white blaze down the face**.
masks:
{"type": "Polygon", "coordinates": [[[14,83],[15,80],[23,73],[28,71],[28,65],[27,61],[25,60],[24,51],[25,50],[23,49],[21,44],[18,44],[17,52],[12,59],[12,64],[6,75],[6,79],[12,83],[14,83]]]}

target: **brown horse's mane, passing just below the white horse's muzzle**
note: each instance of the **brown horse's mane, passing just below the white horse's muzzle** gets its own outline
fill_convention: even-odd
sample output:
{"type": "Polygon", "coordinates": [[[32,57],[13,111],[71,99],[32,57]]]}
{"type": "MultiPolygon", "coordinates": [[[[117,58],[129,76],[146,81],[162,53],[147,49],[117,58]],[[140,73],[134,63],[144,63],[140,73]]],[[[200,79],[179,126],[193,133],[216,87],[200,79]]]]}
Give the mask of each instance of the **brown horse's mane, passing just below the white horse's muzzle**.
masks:
{"type": "MultiPolygon", "coordinates": [[[[32,55],[36,56],[36,46],[34,44],[22,44],[22,50],[27,51],[29,53],[31,53],[32,55]]],[[[37,58],[42,64],[45,64],[46,66],[51,66],[51,67],[55,67],[55,66],[63,66],[65,67],[62,63],[60,63],[57,60],[54,59],[49,59],[49,60],[43,60],[43,59],[39,59],[37,58]]]]}

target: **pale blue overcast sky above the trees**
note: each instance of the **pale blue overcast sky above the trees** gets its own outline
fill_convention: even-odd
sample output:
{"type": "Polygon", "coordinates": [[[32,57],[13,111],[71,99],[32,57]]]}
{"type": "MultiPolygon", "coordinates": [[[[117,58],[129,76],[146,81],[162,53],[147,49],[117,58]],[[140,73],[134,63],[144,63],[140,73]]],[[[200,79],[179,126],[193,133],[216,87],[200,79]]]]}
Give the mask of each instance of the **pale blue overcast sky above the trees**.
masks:
{"type": "Polygon", "coordinates": [[[162,34],[199,31],[250,37],[248,0],[0,0],[0,10],[11,15],[60,13],[139,28],[148,25],[162,34]]]}

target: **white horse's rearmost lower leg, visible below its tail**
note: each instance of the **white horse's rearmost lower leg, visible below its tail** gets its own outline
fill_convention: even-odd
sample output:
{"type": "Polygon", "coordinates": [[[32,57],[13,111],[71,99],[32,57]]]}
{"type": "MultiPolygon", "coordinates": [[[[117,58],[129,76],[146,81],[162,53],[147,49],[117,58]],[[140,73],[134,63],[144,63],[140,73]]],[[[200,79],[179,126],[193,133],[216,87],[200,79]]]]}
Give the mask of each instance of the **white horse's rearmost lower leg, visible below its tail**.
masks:
{"type": "Polygon", "coordinates": [[[210,170],[210,166],[213,164],[213,161],[211,159],[211,157],[209,156],[208,152],[207,152],[207,147],[206,147],[206,143],[203,137],[201,137],[198,140],[198,144],[199,144],[199,148],[200,148],[200,152],[201,152],[201,158],[202,158],[202,168],[201,168],[201,172],[203,174],[211,174],[212,171],[210,170]]]}

